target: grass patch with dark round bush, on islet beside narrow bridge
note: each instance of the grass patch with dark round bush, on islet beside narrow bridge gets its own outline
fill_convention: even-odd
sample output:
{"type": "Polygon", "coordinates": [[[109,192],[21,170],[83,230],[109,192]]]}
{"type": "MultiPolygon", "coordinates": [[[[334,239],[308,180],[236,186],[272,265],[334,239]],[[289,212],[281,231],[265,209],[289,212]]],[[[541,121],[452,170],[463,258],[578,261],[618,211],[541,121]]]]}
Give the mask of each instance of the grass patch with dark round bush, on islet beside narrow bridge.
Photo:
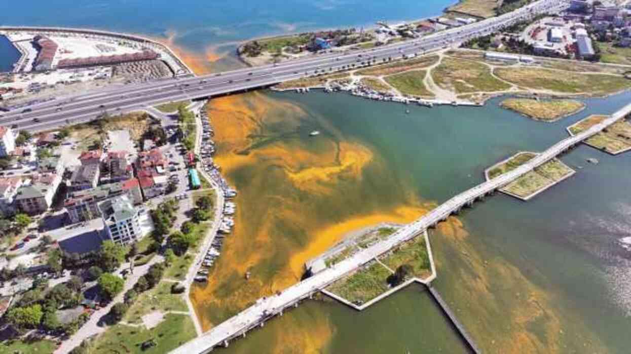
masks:
{"type": "Polygon", "coordinates": [[[397,249],[394,249],[394,251],[382,257],[380,261],[393,271],[399,268],[399,266],[403,266],[403,264],[408,264],[413,269],[411,276],[415,276],[416,278],[423,279],[432,274],[427,245],[425,245],[425,238],[422,236],[418,236],[414,240],[402,244],[397,249]]]}

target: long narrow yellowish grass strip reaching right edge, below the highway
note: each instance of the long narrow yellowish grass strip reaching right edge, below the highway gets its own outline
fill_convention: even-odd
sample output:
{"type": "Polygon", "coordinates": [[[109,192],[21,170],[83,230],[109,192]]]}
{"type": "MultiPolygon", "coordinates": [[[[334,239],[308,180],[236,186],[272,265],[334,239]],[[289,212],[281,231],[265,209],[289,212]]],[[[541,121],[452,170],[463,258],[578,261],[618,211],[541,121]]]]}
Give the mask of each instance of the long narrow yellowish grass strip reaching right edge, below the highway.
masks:
{"type": "Polygon", "coordinates": [[[558,93],[604,95],[631,87],[631,80],[609,74],[581,74],[537,68],[497,68],[495,74],[515,85],[558,93]]]}

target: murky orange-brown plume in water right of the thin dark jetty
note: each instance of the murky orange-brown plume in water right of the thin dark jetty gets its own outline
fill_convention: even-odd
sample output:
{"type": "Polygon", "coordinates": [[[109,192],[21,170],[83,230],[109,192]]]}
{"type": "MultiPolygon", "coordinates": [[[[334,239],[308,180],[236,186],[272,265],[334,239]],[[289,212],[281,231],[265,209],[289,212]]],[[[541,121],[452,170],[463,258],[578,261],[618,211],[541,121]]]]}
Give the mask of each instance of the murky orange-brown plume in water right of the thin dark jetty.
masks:
{"type": "Polygon", "coordinates": [[[439,224],[433,242],[447,242],[459,253],[459,269],[445,269],[444,260],[435,257],[443,281],[457,279],[456,306],[459,318],[487,353],[560,353],[567,348],[563,323],[571,321],[585,337],[580,340],[586,352],[606,353],[603,343],[572,314],[555,305],[555,295],[535,285],[516,266],[500,257],[485,259],[468,242],[471,237],[457,218],[439,224]],[[449,272],[456,272],[451,276],[449,272]],[[563,315],[562,315],[563,314],[563,315]],[[563,317],[562,317],[563,316],[563,317]],[[488,339],[492,338],[492,339],[488,339]]]}

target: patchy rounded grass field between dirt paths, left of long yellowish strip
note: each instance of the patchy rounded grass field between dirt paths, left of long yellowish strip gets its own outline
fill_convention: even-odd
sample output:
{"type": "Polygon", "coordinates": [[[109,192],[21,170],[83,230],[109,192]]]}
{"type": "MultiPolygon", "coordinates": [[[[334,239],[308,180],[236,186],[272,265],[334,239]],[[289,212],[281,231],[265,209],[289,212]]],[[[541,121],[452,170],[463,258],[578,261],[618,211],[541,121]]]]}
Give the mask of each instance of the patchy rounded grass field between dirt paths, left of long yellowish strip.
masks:
{"type": "Polygon", "coordinates": [[[491,68],[477,61],[445,57],[432,70],[433,81],[445,90],[456,93],[503,91],[510,85],[494,78],[491,68]]]}

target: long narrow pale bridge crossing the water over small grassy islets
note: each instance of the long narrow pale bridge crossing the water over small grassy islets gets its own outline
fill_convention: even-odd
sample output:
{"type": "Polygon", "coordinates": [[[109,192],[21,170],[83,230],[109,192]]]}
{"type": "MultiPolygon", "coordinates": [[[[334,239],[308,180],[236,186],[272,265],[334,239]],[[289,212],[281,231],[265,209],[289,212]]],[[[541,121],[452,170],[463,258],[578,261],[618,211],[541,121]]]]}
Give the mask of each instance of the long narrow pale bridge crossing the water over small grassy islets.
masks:
{"type": "Polygon", "coordinates": [[[548,162],[555,156],[571,149],[575,145],[581,143],[584,139],[599,133],[604,128],[610,126],[613,122],[624,117],[630,112],[631,104],[628,104],[618,110],[615,114],[608,117],[608,119],[605,119],[603,122],[594,125],[580,134],[570,136],[569,138],[565,138],[555,145],[550,146],[550,148],[535,156],[527,163],[524,163],[524,165],[454,196],[445,203],[440,204],[440,206],[429,213],[423,215],[421,218],[418,218],[418,220],[413,223],[399,228],[397,232],[393,233],[387,239],[382,240],[367,249],[363,249],[354,256],[345,259],[344,261],[341,261],[331,268],[327,268],[324,271],[307,278],[306,280],[300,281],[300,283],[297,283],[296,285],[290,286],[283,292],[257,300],[256,304],[243,310],[236,316],[228,319],[218,326],[213,327],[213,329],[202,336],[185,343],[172,351],[172,353],[208,353],[216,346],[228,346],[230,340],[241,336],[245,337],[247,331],[255,327],[264,326],[265,321],[271,317],[282,316],[283,310],[291,307],[297,307],[300,301],[305,298],[311,298],[315,293],[319,292],[319,290],[326,288],[326,286],[336,280],[339,280],[346,274],[355,271],[355,269],[360,268],[363,264],[366,264],[375,257],[384,254],[396,245],[401,244],[401,242],[410,240],[419,233],[425,232],[427,228],[435,227],[435,225],[437,225],[440,221],[447,220],[450,215],[458,213],[466,206],[471,206],[471,204],[475,203],[476,200],[492,194],[497,189],[504,187],[506,184],[509,184],[521,175],[526,174],[543,163],[548,162]]]}

